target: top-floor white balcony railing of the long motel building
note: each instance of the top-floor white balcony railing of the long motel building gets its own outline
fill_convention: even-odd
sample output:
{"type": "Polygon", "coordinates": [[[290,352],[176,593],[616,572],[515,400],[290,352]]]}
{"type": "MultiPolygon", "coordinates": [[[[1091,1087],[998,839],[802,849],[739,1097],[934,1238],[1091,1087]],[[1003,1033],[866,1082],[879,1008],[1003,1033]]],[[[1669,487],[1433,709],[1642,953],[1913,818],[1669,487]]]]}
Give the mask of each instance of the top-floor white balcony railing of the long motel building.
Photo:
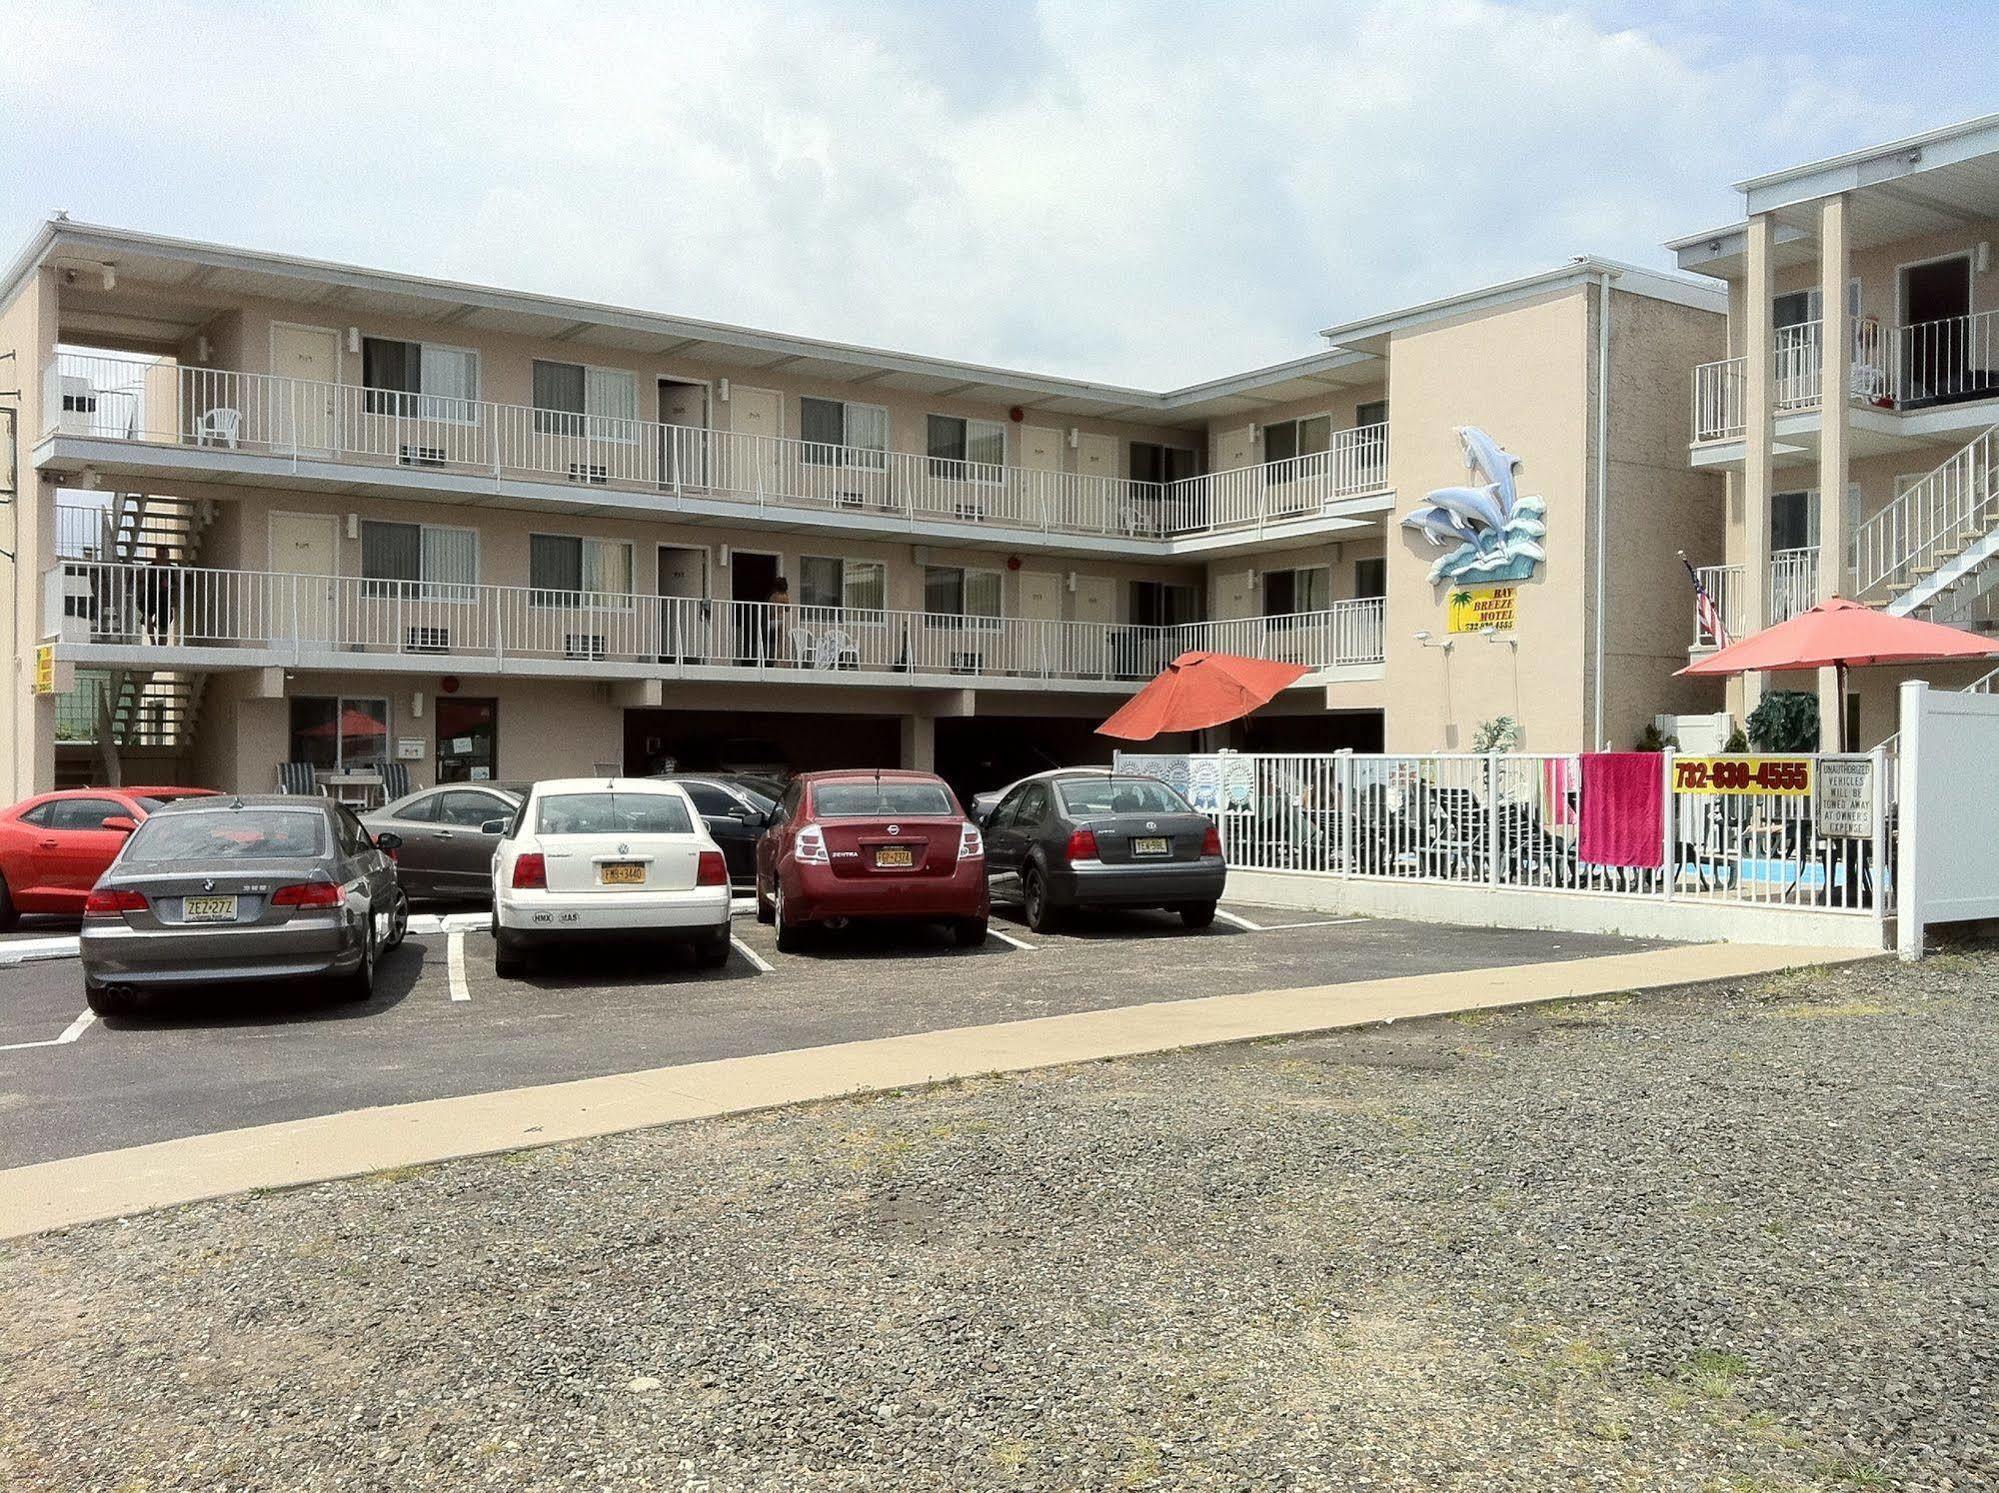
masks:
{"type": "Polygon", "coordinates": [[[46,396],[48,432],[96,440],[1041,534],[1177,538],[1255,530],[1387,488],[1385,424],[1341,432],[1331,450],[1313,456],[1161,484],[106,354],[58,354],[46,396]]]}

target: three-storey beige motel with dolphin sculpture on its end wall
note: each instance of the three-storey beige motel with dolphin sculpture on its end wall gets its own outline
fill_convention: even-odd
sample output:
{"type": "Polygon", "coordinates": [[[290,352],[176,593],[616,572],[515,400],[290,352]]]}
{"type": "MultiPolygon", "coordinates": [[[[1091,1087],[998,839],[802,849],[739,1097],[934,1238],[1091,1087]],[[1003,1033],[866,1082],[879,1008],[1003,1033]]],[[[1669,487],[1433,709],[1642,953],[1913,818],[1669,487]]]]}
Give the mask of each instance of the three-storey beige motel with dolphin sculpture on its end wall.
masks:
{"type": "MultiPolygon", "coordinates": [[[[1915,208],[1851,204],[1891,288],[1873,246],[1915,208]]],[[[1729,230],[1771,296],[1817,284],[1793,218],[1729,230]]],[[[1107,759],[1093,726],[1185,650],[1307,668],[1211,744],[1469,749],[1511,716],[1527,749],[1631,746],[1723,702],[1673,678],[1679,552],[1735,556],[1745,506],[1763,534],[1817,442],[1815,404],[1743,400],[1761,444],[1689,464],[1731,290],[1579,258],[1147,392],[58,218],[0,270],[8,793],[300,763],[356,797],[390,763],[984,787],[1107,759]],[[1489,522],[1431,502],[1491,480],[1461,428],[1513,480],[1489,522]]],[[[1901,412],[1837,410],[1869,480],[1957,418],[1877,456],[1863,422],[1901,412]]]]}

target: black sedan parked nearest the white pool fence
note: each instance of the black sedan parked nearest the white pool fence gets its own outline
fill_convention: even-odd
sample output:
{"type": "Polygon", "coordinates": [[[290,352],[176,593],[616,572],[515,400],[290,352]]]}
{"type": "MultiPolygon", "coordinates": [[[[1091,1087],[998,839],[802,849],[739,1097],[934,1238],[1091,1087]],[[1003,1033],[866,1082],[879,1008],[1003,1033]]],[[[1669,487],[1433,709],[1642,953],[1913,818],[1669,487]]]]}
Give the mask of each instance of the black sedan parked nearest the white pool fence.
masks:
{"type": "Polygon", "coordinates": [[[1027,927],[1067,907],[1171,907],[1215,921],[1227,881],[1213,821],[1157,777],[1069,767],[1027,777],[986,815],[994,901],[1019,901],[1027,927]]]}

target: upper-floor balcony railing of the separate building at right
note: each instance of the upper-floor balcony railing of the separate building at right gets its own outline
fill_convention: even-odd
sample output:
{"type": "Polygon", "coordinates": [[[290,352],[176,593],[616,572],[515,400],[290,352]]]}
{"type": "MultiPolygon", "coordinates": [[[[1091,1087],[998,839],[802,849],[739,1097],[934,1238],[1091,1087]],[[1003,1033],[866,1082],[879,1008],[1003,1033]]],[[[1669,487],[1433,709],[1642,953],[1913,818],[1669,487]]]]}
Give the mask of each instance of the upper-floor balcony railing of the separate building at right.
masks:
{"type": "MultiPolygon", "coordinates": [[[[1781,326],[1771,346],[1775,414],[1819,408],[1821,322],[1781,326]]],[[[1737,440],[1747,428],[1747,360],[1723,358],[1693,370],[1693,440],[1737,440]]],[[[1855,404],[1925,410],[1999,396],[1999,312],[1949,316],[1883,330],[1853,326],[1847,392],[1855,404]]]]}

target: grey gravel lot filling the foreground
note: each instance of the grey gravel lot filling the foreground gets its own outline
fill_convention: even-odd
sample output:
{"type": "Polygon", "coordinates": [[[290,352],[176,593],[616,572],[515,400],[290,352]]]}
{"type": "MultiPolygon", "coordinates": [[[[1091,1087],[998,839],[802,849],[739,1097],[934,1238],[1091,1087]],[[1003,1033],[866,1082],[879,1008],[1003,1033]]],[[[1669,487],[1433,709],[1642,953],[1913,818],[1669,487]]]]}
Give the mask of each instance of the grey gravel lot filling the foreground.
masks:
{"type": "Polygon", "coordinates": [[[74,1229],[0,1483],[1993,1487],[1995,1039],[1957,955],[74,1229]]]}

